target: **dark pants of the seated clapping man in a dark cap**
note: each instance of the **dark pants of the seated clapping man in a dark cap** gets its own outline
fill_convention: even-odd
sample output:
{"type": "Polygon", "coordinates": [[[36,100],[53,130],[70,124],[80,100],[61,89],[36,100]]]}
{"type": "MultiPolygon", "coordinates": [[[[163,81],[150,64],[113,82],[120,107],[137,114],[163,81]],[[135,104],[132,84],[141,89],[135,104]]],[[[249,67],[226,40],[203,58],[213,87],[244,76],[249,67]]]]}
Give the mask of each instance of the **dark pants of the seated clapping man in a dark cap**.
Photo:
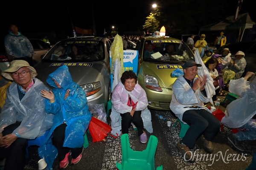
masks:
{"type": "Polygon", "coordinates": [[[195,146],[195,142],[201,134],[207,141],[212,141],[221,126],[221,122],[205,109],[185,111],[182,120],[190,126],[181,141],[189,148],[195,146]]]}

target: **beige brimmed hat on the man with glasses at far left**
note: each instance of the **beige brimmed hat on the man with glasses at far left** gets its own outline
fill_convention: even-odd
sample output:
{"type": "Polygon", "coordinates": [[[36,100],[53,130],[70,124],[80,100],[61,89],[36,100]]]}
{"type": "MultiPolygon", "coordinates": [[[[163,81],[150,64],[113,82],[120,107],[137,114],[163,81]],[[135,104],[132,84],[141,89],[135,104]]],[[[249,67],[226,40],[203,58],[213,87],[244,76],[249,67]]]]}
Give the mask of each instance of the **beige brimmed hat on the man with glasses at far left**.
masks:
{"type": "Polygon", "coordinates": [[[35,68],[29,65],[28,62],[25,60],[13,60],[10,64],[10,67],[4,71],[2,71],[2,76],[6,79],[13,80],[9,73],[13,73],[15,71],[18,71],[22,67],[27,67],[29,70],[33,72],[33,78],[37,76],[37,73],[35,71],[35,68]]]}

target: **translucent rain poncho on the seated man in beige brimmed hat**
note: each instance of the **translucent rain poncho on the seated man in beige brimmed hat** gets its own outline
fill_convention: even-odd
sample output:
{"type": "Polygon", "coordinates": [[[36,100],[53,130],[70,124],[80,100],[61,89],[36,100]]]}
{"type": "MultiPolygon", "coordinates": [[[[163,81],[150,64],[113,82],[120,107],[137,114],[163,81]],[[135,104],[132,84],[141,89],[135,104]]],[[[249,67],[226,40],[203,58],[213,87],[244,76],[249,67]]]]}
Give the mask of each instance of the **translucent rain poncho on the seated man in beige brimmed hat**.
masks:
{"type": "Polygon", "coordinates": [[[48,90],[48,88],[39,79],[33,79],[34,85],[29,88],[21,100],[19,99],[17,83],[12,82],[7,88],[6,102],[0,114],[0,132],[7,125],[21,122],[20,126],[12,133],[17,132],[22,138],[35,139],[52,127],[54,115],[46,113],[45,98],[41,96],[41,90],[48,90]]]}

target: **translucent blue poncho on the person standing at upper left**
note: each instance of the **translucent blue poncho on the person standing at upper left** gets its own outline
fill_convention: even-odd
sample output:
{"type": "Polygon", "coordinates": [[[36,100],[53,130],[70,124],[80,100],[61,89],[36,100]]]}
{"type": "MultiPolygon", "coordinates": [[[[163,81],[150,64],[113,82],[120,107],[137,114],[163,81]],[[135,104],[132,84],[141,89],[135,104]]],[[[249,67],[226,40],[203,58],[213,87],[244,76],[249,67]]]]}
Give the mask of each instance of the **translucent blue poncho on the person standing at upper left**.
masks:
{"type": "Polygon", "coordinates": [[[7,55],[12,59],[34,55],[34,49],[29,39],[20,32],[18,32],[18,35],[14,35],[10,31],[5,37],[4,45],[7,55]]]}

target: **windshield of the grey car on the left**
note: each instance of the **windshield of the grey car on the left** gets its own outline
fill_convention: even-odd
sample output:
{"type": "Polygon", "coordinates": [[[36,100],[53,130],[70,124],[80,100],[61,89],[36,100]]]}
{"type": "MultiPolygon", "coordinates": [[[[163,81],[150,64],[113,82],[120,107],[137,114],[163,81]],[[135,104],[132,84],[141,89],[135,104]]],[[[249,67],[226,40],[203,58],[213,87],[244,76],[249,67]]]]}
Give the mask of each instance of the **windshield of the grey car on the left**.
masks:
{"type": "Polygon", "coordinates": [[[54,60],[55,62],[63,60],[65,62],[99,61],[105,56],[103,45],[102,41],[97,40],[61,41],[47,53],[43,60],[54,60]]]}

